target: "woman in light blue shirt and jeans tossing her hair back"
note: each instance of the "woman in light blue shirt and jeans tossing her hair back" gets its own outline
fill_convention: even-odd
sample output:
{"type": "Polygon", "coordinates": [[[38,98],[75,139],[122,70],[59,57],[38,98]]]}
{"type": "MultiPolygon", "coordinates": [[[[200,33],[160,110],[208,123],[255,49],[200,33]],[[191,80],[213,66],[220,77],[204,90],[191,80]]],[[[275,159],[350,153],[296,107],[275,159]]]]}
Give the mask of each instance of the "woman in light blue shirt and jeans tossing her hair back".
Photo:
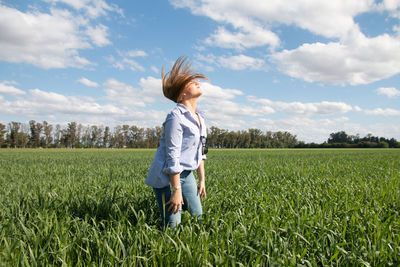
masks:
{"type": "Polygon", "coordinates": [[[181,205],[192,215],[202,212],[200,197],[206,198],[204,160],[207,135],[203,114],[196,109],[202,90],[186,58],[180,57],[172,70],[161,69],[164,96],[177,103],[163,123],[160,146],[153,158],[146,184],[153,187],[160,209],[162,228],[181,222],[181,205]],[[197,170],[199,186],[193,175],[197,170]]]}

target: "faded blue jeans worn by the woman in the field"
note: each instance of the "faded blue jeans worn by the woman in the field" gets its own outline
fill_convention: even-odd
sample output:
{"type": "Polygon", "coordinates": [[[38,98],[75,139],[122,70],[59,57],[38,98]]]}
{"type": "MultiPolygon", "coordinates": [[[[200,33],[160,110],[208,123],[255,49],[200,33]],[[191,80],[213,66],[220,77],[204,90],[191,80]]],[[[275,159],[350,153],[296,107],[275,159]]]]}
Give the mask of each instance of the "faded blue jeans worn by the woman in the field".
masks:
{"type": "Polygon", "coordinates": [[[160,209],[161,225],[163,229],[165,229],[165,227],[167,226],[176,227],[178,224],[180,224],[182,209],[188,210],[191,215],[194,215],[196,217],[199,217],[201,214],[203,214],[200,203],[200,196],[197,191],[197,183],[194,178],[193,172],[181,172],[180,181],[182,186],[181,190],[184,204],[175,214],[171,211],[168,211],[169,205],[165,205],[165,203],[169,201],[172,195],[170,187],[166,186],[163,188],[153,188],[156,195],[157,204],[160,209]]]}

